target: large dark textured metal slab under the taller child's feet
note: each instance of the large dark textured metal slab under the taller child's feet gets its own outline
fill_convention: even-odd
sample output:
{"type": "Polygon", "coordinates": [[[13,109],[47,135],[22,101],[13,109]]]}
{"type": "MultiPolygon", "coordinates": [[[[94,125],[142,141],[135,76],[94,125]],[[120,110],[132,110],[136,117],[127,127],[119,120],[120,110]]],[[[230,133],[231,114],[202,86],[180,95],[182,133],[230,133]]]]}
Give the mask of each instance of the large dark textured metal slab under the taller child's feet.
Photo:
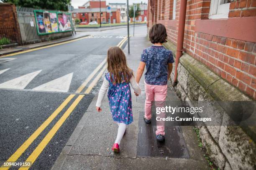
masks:
{"type": "Polygon", "coordinates": [[[156,126],[146,124],[143,116],[144,112],[139,112],[138,157],[190,158],[189,151],[182,136],[182,129],[179,126],[174,126],[171,122],[166,122],[165,141],[158,142],[155,135],[156,126]]]}

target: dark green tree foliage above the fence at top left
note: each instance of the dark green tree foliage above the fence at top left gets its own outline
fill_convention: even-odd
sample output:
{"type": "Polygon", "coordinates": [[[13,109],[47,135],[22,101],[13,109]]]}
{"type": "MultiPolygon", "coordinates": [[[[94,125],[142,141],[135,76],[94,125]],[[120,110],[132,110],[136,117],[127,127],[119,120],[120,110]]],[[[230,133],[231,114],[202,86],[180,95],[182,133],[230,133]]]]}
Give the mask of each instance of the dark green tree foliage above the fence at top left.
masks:
{"type": "Polygon", "coordinates": [[[68,10],[71,0],[1,0],[4,3],[13,3],[20,7],[33,7],[47,10],[68,10]]]}

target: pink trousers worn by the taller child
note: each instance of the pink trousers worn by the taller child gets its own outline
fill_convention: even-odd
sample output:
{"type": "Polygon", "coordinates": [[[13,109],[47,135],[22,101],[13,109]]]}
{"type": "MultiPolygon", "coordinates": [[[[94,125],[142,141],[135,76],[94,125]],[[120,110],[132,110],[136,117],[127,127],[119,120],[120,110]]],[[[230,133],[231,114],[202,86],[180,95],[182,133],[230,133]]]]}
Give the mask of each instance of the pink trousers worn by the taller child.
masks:
{"type": "MultiPolygon", "coordinates": [[[[167,85],[148,85],[145,84],[145,93],[146,93],[146,101],[145,101],[145,115],[146,119],[151,119],[151,102],[152,101],[165,101],[167,95],[167,85]]],[[[157,102],[158,104],[161,102],[157,102]]],[[[156,106],[156,107],[165,107],[156,106]]],[[[164,114],[165,115],[165,114],[164,114]]],[[[156,135],[164,135],[164,126],[157,126],[156,135]]]]}

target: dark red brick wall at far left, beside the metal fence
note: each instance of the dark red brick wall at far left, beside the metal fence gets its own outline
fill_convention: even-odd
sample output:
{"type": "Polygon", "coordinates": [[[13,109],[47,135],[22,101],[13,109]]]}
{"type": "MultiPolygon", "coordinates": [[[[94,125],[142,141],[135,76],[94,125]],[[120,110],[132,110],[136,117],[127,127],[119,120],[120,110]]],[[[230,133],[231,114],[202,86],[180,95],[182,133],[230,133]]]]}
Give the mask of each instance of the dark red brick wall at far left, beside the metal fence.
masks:
{"type": "Polygon", "coordinates": [[[15,5],[0,3],[0,38],[9,38],[12,42],[21,43],[20,27],[15,5]]]}

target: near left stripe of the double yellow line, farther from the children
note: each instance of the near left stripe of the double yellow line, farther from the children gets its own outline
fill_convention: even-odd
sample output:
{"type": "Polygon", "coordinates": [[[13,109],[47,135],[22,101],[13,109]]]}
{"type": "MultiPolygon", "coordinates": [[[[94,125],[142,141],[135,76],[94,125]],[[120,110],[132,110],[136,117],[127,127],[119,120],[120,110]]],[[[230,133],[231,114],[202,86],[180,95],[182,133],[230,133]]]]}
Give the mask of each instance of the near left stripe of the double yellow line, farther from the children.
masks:
{"type": "MultiPolygon", "coordinates": [[[[44,121],[44,123],[18,148],[13,155],[6,161],[8,162],[15,162],[20,158],[20,155],[25,152],[25,150],[31,145],[31,143],[38,137],[38,135],[43,132],[43,130],[51,123],[52,120],[61,112],[61,110],[69,103],[69,101],[75,95],[69,95],[67,99],[61,103],[61,105],[44,121]]],[[[0,170],[8,170],[10,167],[1,167],[0,170]]]]}

